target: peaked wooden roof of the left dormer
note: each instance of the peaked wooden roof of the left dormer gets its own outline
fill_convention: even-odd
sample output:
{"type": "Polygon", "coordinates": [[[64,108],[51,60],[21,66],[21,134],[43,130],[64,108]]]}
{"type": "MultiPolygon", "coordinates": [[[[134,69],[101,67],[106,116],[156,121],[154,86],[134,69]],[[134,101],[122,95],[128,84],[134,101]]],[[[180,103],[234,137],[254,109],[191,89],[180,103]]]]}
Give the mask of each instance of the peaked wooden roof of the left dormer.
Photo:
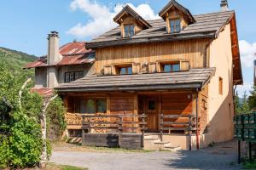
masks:
{"type": "Polygon", "coordinates": [[[126,5],[125,8],[123,8],[119,14],[117,14],[114,18],[113,21],[118,23],[119,25],[121,24],[121,18],[122,16],[124,16],[125,14],[130,14],[131,17],[133,17],[134,19],[136,19],[138,22],[140,22],[145,28],[150,28],[152,27],[146,20],[143,19],[142,16],[140,16],[139,14],[137,14],[137,12],[135,10],[133,10],[129,5],[126,5]]]}

